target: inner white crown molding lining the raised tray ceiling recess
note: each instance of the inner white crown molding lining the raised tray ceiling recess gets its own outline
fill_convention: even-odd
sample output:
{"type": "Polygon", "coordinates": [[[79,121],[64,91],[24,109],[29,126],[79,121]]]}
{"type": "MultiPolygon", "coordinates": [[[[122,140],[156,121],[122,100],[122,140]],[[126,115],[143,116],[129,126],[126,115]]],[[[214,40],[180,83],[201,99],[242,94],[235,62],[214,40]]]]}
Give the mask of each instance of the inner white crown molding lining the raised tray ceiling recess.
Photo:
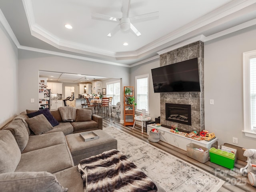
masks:
{"type": "Polygon", "coordinates": [[[28,19],[28,23],[30,26],[31,34],[44,42],[47,42],[48,44],[51,44],[52,46],[67,50],[67,51],[77,51],[80,50],[80,53],[82,54],[88,54],[88,53],[94,53],[94,54],[101,54],[104,56],[110,56],[113,58],[127,58],[127,57],[137,57],[140,58],[142,54],[145,54],[149,51],[154,50],[155,48],[159,48],[160,46],[167,44],[168,42],[171,42],[172,40],[175,40],[177,38],[180,38],[198,28],[201,28],[203,26],[206,26],[208,24],[211,24],[212,22],[215,22],[221,18],[224,18],[225,16],[228,16],[230,14],[233,14],[234,12],[237,12],[241,10],[242,8],[245,8],[247,6],[250,6],[254,4],[255,0],[234,0],[228,4],[225,4],[224,6],[218,8],[217,10],[214,10],[210,12],[209,14],[195,20],[194,22],[191,22],[190,24],[181,27],[180,29],[154,41],[150,44],[147,44],[146,46],[139,48],[138,50],[129,51],[129,52],[111,52],[108,50],[102,50],[99,48],[94,48],[90,46],[86,46],[84,44],[74,43],[74,42],[68,42],[66,40],[59,39],[57,36],[54,36],[53,34],[46,31],[44,28],[38,26],[35,23],[34,18],[34,12],[32,7],[32,1],[31,0],[22,0],[26,16],[28,19]]]}

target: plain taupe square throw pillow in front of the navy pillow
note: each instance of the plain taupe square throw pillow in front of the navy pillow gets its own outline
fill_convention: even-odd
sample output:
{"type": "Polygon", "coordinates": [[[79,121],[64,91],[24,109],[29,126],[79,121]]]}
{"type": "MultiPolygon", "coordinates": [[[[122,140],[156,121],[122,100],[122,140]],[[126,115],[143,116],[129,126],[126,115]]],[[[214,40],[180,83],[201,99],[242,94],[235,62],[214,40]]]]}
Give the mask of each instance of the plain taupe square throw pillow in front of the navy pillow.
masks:
{"type": "Polygon", "coordinates": [[[43,114],[25,119],[25,121],[28,123],[29,128],[36,135],[43,134],[44,132],[53,129],[52,125],[43,114]]]}

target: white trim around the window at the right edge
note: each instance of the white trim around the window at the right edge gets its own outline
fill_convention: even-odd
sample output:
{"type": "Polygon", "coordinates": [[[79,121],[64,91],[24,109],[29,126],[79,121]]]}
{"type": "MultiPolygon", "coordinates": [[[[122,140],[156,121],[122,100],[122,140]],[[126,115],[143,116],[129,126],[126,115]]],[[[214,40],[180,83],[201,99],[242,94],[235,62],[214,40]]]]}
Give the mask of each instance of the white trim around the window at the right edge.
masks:
{"type": "Polygon", "coordinates": [[[244,101],[244,132],[245,136],[256,138],[256,131],[251,129],[250,103],[250,58],[256,57],[256,50],[243,53],[243,101],[244,101]]]}

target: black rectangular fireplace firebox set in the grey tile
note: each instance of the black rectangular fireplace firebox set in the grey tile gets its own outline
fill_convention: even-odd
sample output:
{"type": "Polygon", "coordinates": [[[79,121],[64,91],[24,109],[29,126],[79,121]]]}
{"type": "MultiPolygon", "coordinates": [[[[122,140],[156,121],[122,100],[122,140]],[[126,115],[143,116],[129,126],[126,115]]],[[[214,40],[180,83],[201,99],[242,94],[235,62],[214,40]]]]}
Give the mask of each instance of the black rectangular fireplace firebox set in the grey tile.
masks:
{"type": "Polygon", "coordinates": [[[165,104],[166,120],[191,125],[191,105],[165,104]]]}

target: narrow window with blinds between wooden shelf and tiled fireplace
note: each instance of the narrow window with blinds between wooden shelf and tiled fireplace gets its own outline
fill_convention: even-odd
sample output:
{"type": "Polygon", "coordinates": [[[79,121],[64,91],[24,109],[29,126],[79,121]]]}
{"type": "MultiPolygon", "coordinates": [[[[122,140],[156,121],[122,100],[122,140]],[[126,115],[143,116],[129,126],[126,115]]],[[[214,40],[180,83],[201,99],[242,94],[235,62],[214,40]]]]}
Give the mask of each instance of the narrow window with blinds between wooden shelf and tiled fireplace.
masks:
{"type": "Polygon", "coordinates": [[[136,76],[136,110],[141,111],[148,108],[148,74],[136,76]]]}

